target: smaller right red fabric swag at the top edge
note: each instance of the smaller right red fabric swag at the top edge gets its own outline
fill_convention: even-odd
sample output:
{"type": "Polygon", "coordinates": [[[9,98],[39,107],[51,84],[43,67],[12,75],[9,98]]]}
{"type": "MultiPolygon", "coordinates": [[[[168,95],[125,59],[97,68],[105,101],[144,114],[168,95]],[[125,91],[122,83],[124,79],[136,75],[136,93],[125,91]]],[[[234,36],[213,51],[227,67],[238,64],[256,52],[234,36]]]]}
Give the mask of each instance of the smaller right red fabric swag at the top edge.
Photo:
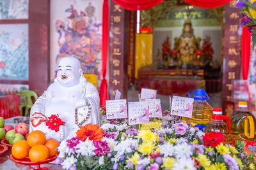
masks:
{"type": "Polygon", "coordinates": [[[201,7],[201,8],[216,8],[230,3],[232,0],[183,0],[186,3],[201,7]]]}

